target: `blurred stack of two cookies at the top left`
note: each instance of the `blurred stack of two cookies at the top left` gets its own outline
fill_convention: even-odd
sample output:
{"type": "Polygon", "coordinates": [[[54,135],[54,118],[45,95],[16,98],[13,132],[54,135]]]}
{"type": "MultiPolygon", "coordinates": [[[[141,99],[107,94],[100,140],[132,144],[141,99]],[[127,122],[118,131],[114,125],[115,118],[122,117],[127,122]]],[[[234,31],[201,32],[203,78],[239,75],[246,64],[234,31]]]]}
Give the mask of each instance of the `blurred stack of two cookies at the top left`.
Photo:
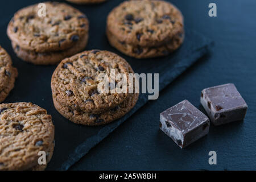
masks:
{"type": "Polygon", "coordinates": [[[44,2],[41,7],[36,4],[15,13],[7,35],[20,59],[47,65],[82,51],[88,31],[88,19],[79,10],[65,3],[44,2]]]}

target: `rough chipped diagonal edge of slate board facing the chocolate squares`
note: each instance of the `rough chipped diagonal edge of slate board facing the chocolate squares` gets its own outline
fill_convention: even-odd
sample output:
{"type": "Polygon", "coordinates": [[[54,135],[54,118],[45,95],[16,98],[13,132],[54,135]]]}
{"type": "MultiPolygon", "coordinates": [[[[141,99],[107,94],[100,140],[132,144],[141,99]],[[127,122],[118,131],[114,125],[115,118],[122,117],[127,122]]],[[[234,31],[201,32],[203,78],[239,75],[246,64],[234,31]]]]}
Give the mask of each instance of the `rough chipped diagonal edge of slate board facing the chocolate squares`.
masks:
{"type": "MultiPolygon", "coordinates": [[[[183,73],[186,69],[191,67],[194,63],[196,63],[197,60],[200,59],[200,57],[204,56],[208,50],[209,46],[212,45],[212,41],[207,40],[207,43],[205,43],[205,46],[197,49],[195,52],[192,52],[191,54],[187,55],[184,59],[191,60],[189,64],[182,65],[181,63],[177,64],[175,68],[171,69],[169,72],[164,73],[159,78],[159,82],[163,82],[163,84],[159,85],[159,92],[164,89],[168,84],[170,84],[172,81],[175,80],[181,73],[183,73]],[[171,75],[170,72],[172,73],[171,75]]],[[[140,96],[140,98],[142,98],[140,96]]],[[[66,160],[60,168],[57,168],[57,170],[65,171],[68,170],[73,164],[78,162],[84,155],[86,155],[91,148],[96,146],[98,143],[100,143],[104,138],[108,137],[112,131],[117,129],[118,126],[121,125],[124,121],[126,121],[127,118],[129,118],[132,114],[135,113],[139,108],[141,108],[144,104],[147,102],[147,96],[145,95],[143,101],[140,105],[136,105],[129,113],[127,113],[124,117],[119,119],[115,122],[114,125],[110,126],[106,125],[104,128],[102,128],[97,135],[94,135],[93,137],[90,137],[85,140],[85,142],[81,143],[79,146],[75,148],[75,150],[69,155],[69,159],[66,160]],[[146,99],[145,99],[146,98],[146,99]],[[95,142],[97,141],[97,142],[95,142]],[[75,158],[73,157],[75,156],[75,158]]]]}

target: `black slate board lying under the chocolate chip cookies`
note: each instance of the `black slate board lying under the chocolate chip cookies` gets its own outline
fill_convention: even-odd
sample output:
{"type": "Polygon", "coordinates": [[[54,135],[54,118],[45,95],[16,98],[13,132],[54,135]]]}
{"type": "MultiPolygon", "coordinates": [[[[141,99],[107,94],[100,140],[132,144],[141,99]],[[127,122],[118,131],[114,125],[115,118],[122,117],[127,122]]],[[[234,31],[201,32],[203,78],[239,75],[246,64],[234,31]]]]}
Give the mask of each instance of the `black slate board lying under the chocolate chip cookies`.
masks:
{"type": "MultiPolygon", "coordinates": [[[[15,1],[15,6],[9,6],[8,11],[1,7],[1,12],[5,16],[1,16],[0,33],[4,35],[0,45],[10,53],[14,66],[18,68],[19,77],[15,82],[15,88],[6,98],[5,102],[32,102],[48,111],[52,115],[55,125],[55,151],[51,163],[48,168],[68,169],[72,164],[77,162],[84,156],[90,148],[94,147],[102,139],[108,136],[122,122],[130,117],[135,111],[146,104],[147,95],[141,94],[137,105],[125,117],[100,127],[86,127],[76,125],[62,117],[55,110],[51,96],[51,75],[55,66],[35,66],[25,63],[18,59],[11,48],[11,44],[6,35],[7,23],[16,10],[21,7],[30,5],[29,1],[15,1]]],[[[39,2],[39,1],[38,1],[39,2]]],[[[159,73],[159,90],[170,84],[177,76],[195,63],[201,56],[208,51],[210,41],[204,36],[186,30],[185,42],[176,52],[170,56],[137,60],[127,57],[122,53],[110,47],[105,36],[105,21],[109,11],[117,6],[121,1],[110,1],[98,6],[76,6],[72,5],[84,12],[90,21],[90,38],[86,49],[106,49],[118,53],[124,57],[137,73],[159,73]]],[[[10,2],[7,2],[10,3],[10,2]]],[[[11,5],[11,3],[10,3],[11,5]]]]}

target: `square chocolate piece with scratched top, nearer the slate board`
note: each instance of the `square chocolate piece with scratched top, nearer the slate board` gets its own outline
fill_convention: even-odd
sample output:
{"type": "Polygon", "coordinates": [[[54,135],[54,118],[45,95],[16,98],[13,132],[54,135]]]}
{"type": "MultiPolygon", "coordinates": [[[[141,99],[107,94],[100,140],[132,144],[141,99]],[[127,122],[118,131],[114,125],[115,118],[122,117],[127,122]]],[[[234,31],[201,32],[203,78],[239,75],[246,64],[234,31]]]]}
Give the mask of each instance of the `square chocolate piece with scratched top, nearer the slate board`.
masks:
{"type": "Polygon", "coordinates": [[[187,100],[160,114],[160,130],[184,148],[208,134],[209,118],[187,100]]]}

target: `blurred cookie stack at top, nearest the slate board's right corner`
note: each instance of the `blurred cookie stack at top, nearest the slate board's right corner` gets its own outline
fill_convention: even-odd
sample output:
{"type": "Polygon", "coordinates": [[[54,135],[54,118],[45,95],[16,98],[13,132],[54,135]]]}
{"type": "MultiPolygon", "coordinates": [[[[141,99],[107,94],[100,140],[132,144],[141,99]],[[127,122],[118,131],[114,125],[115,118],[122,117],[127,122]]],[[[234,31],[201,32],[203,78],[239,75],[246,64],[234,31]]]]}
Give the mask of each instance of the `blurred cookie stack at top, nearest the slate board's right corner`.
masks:
{"type": "Polygon", "coordinates": [[[138,59],[168,55],[183,43],[183,15],[171,3],[125,1],[107,19],[109,43],[138,59]]]}

